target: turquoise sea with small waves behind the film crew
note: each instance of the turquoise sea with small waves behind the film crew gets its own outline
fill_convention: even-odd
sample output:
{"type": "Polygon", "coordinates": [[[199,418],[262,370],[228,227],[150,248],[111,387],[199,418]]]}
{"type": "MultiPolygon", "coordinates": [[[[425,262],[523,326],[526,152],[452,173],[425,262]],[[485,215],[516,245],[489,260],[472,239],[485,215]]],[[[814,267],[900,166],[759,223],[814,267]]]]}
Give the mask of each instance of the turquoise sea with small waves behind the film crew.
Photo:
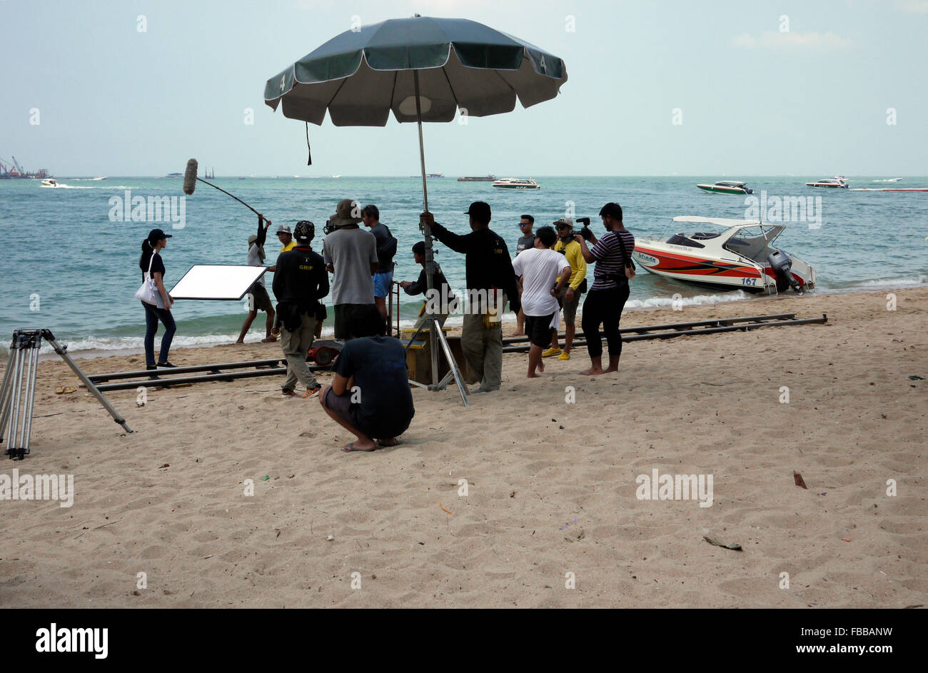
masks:
{"type": "MultiPolygon", "coordinates": [[[[490,183],[458,182],[453,176],[430,178],[430,207],[437,221],[465,233],[470,229],[463,212],[470,201],[488,201],[493,208],[490,226],[507,239],[510,252],[520,236],[517,224],[523,213],[533,214],[535,226],[541,226],[573,207],[576,216],[592,217],[594,230],[599,231],[599,208],[606,201],[618,201],[625,209],[625,226],[636,236],[670,235],[685,228],[671,222],[675,215],[746,216],[745,197],[706,194],[695,187],[698,182],[726,179],[722,175],[534,177],[541,188],[531,191],[503,191],[490,183]]],[[[768,200],[821,198],[820,226],[787,223],[778,241],[816,267],[815,292],[888,291],[928,282],[928,193],[806,188],[806,182],[822,175],[736,177],[746,180],[758,198],[762,190],[768,200]]],[[[851,188],[928,187],[928,177],[876,182],[885,177],[895,176],[848,176],[848,180],[851,188]]],[[[0,180],[0,356],[6,356],[12,330],[29,327],[53,330],[78,354],[140,349],[144,312],[133,295],[141,282],[141,241],[155,226],[174,234],[163,252],[169,289],[191,265],[245,264],[247,239],[257,217],[216,189],[198,183],[196,192],[183,201],[183,221],[178,217],[181,201],[174,201],[178,209],[174,221],[162,213],[158,221],[148,220],[146,214],[146,221],[139,222],[132,220],[131,208],[119,216],[120,201],[128,196],[131,206],[132,197],[181,197],[182,178],[56,179],[59,188],[44,188],[38,180],[0,180]]],[[[380,220],[399,239],[394,279],[419,275],[410,252],[420,238],[419,177],[220,176],[213,182],[273,220],[272,231],[280,223],[315,222],[316,251],[321,250],[322,226],[339,200],[374,203],[380,208],[380,220]]],[[[273,233],[265,250],[271,264],[278,250],[273,233]]],[[[436,259],[449,282],[463,290],[463,256],[441,245],[438,250],[436,259]]],[[[629,309],[669,305],[679,292],[684,304],[740,301],[746,303],[745,315],[757,312],[747,304],[756,300],[741,291],[707,291],[646,272],[638,275],[632,288],[629,309]]],[[[174,345],[233,341],[245,316],[243,304],[178,301],[174,345]]],[[[401,317],[411,319],[418,310],[419,301],[404,294],[401,317]]],[[[258,323],[263,323],[260,316],[258,323]]],[[[262,336],[252,327],[249,340],[262,336]]]]}

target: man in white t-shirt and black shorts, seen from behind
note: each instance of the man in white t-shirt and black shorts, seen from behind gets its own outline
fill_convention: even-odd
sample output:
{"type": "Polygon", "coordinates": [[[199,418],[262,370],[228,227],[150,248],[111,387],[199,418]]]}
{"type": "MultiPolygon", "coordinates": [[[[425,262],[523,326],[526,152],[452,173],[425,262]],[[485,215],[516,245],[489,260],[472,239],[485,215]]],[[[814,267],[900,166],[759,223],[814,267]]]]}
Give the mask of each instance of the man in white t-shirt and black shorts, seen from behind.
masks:
{"type": "Polygon", "coordinates": [[[522,311],[525,313],[525,333],[532,346],[528,352],[528,378],[534,379],[535,368],[545,370],[541,351],[551,343],[551,332],[561,326],[558,295],[571,278],[571,265],[560,252],[551,250],[558,240],[551,226],[542,226],[535,235],[535,247],[516,256],[512,270],[522,283],[522,311]]]}

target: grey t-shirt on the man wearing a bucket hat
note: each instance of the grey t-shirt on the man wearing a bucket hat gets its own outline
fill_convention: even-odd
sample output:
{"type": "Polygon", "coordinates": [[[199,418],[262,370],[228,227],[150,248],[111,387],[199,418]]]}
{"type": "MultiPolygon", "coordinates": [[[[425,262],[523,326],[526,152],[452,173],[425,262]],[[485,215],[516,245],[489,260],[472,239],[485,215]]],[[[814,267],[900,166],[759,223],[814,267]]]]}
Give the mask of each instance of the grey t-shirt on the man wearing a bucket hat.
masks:
{"type": "Polygon", "coordinates": [[[322,257],[335,268],[332,304],[373,304],[371,263],[377,263],[377,239],[364,229],[336,229],[322,241],[322,257]]]}

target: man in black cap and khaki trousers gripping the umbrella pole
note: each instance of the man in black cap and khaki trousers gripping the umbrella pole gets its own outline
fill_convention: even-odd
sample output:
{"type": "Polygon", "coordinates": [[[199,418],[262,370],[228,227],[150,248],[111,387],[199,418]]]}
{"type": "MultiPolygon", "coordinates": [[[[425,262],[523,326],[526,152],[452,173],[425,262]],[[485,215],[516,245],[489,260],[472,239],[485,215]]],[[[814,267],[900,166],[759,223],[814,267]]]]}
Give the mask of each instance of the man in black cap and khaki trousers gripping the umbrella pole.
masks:
{"type": "Polygon", "coordinates": [[[420,215],[432,227],[436,239],[455,252],[463,252],[468,289],[468,307],[461,331],[461,350],[470,369],[480,378],[472,393],[499,390],[503,373],[502,315],[507,298],[513,311],[521,304],[515,272],[505,241],[490,229],[490,205],[470,204],[470,234],[459,235],[435,222],[431,213],[420,215]]]}

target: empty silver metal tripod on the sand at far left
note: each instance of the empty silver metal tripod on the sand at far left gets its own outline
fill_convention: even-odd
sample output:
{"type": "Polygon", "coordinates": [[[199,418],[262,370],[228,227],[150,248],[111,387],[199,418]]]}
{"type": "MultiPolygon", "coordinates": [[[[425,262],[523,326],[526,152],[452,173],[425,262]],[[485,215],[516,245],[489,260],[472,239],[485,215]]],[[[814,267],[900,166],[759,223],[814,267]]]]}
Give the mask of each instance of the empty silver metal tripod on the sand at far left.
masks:
{"type": "Polygon", "coordinates": [[[35,401],[35,373],[39,364],[39,348],[42,340],[52,345],[87,390],[97,397],[103,408],[110,412],[113,421],[122,425],[127,433],[132,430],[125,419],[110,405],[110,402],[97,390],[87,375],[68,355],[67,346],[55,340],[51,330],[14,330],[13,341],[9,345],[9,362],[4,372],[3,384],[0,386],[0,443],[4,440],[7,427],[9,434],[6,441],[6,455],[12,459],[24,459],[29,454],[29,441],[32,435],[32,405],[35,401]],[[23,387],[25,383],[25,387],[23,387]]]}

